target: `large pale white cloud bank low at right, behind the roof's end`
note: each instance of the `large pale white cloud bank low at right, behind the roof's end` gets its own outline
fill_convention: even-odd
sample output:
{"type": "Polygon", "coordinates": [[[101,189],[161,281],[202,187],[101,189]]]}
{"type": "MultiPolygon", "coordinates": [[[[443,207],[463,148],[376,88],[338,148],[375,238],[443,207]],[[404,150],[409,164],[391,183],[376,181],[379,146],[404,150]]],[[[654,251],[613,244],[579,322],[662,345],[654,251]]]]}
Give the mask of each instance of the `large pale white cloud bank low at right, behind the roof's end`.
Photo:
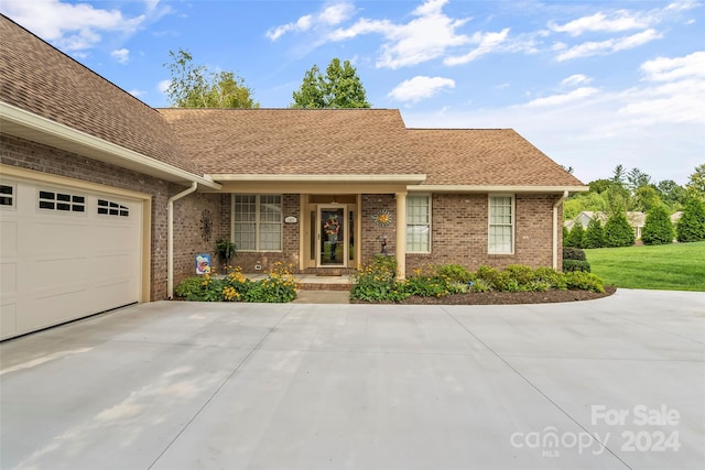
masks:
{"type": "MultiPolygon", "coordinates": [[[[617,164],[654,179],[687,181],[703,163],[704,52],[644,62],[644,79],[628,89],[556,95],[514,106],[404,112],[410,128],[516,129],[583,182],[617,164]],[[543,100],[543,101],[541,101],[543,100]],[[553,105],[553,106],[551,106],[553,105]]],[[[568,77],[570,78],[570,77],[568,77]]],[[[565,81],[565,80],[564,80],[565,81]]]]}

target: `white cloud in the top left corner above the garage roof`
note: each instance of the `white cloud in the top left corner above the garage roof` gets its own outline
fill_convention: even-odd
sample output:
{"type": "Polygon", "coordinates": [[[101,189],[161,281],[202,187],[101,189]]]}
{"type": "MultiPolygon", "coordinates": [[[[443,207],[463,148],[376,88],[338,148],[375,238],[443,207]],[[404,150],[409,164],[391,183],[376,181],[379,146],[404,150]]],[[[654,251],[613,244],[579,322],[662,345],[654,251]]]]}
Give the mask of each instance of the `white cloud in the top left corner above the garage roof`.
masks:
{"type": "Polygon", "coordinates": [[[36,35],[66,51],[83,51],[100,42],[100,32],[133,33],[145,20],[124,18],[120,10],[59,0],[7,1],[2,11],[36,35]]]}

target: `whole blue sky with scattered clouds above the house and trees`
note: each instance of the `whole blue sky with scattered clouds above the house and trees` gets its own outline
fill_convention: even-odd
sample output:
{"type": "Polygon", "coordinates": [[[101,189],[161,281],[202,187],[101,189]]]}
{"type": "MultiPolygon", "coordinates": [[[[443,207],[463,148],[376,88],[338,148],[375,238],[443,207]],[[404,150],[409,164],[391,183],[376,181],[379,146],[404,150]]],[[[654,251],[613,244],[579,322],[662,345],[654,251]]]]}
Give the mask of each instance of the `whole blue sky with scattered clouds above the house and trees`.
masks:
{"type": "Polygon", "coordinates": [[[153,107],[169,51],[241,76],[263,108],[349,59],[408,127],[513,128],[585,183],[705,163],[705,6],[673,1],[62,1],[0,11],[153,107]]]}

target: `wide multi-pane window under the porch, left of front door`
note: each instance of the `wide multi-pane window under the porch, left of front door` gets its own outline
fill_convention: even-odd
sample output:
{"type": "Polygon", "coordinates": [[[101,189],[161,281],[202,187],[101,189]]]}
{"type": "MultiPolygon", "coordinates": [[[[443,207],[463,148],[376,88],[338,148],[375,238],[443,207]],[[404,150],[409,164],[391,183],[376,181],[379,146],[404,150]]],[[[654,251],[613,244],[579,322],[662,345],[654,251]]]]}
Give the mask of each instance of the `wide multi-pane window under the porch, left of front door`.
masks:
{"type": "Polygon", "coordinates": [[[282,221],[281,195],[232,195],[232,232],[238,250],[281,251],[282,221]]]}

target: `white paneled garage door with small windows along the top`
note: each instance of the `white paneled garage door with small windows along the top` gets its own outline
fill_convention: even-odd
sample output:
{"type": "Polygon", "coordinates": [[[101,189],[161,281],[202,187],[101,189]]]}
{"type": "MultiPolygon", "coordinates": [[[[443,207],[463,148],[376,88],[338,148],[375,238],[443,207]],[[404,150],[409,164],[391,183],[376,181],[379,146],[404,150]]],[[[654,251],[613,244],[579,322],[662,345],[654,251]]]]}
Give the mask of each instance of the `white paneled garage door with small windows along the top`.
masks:
{"type": "Polygon", "coordinates": [[[141,225],[141,200],[3,177],[0,339],[138,302],[141,225]]]}

